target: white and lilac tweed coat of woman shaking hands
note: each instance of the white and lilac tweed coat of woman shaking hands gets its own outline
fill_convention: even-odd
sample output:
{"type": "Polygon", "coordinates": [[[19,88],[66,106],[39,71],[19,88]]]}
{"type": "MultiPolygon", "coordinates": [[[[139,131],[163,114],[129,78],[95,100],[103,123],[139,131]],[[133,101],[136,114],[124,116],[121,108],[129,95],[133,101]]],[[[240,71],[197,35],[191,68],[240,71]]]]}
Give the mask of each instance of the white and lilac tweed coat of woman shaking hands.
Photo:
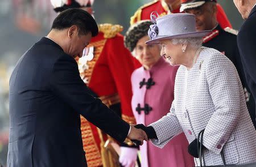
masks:
{"type": "Polygon", "coordinates": [[[256,131],[236,67],[215,49],[204,47],[190,70],[179,67],[170,113],[150,126],[160,148],[182,131],[191,143],[205,129],[205,165],[222,165],[221,150],[226,164],[256,161],[256,131]]]}

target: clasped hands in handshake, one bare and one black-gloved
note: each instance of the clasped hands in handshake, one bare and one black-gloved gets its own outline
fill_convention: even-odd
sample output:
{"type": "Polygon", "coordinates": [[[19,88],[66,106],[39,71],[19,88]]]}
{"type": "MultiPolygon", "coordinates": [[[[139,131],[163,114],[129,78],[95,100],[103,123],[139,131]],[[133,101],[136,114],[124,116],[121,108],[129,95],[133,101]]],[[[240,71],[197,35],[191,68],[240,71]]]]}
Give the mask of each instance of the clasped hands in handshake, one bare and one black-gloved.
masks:
{"type": "Polygon", "coordinates": [[[127,138],[135,145],[142,145],[143,140],[147,141],[148,139],[157,139],[156,132],[152,126],[144,126],[143,124],[130,125],[131,131],[127,138]]]}

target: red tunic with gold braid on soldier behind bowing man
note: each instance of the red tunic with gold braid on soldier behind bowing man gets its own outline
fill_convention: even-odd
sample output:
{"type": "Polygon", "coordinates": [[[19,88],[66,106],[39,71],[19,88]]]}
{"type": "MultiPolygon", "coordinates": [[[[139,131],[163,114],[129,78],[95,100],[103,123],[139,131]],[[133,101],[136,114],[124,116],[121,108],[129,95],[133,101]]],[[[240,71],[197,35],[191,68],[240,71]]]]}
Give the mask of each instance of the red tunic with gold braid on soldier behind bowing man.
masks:
{"type": "MultiPolygon", "coordinates": [[[[110,24],[106,27],[108,26],[111,27],[110,24]]],[[[109,31],[112,31],[111,28],[109,31]]],[[[113,36],[113,33],[110,32],[109,35],[113,36]]],[[[104,35],[106,33],[100,32],[92,38],[88,47],[93,48],[93,59],[85,63],[86,70],[81,71],[82,63],[77,60],[81,78],[98,96],[118,93],[121,100],[122,118],[129,123],[135,123],[131,110],[130,77],[134,70],[131,54],[123,45],[122,35],[116,31],[113,37],[104,37],[104,35]]],[[[101,166],[101,140],[97,127],[81,117],[81,132],[88,166],[101,166]]]]}

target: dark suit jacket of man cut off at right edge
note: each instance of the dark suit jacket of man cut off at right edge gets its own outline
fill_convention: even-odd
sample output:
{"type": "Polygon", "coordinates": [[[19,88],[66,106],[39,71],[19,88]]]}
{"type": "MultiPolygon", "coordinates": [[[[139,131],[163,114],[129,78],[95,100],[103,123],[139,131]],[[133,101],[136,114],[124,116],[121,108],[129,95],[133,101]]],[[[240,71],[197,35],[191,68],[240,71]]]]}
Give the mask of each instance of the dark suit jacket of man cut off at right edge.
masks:
{"type": "Polygon", "coordinates": [[[256,6],[251,10],[249,17],[240,28],[237,44],[247,85],[254,100],[256,100],[256,6]]]}

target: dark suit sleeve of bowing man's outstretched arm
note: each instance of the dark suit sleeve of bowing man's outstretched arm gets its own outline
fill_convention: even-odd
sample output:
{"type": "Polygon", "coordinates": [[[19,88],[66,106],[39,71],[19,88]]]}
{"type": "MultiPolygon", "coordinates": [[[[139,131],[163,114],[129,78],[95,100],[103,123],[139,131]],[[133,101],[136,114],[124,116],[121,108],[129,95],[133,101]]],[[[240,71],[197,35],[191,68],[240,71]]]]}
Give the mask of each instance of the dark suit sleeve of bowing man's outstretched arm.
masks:
{"type": "Polygon", "coordinates": [[[81,114],[119,142],[125,140],[129,124],[102,104],[101,100],[89,95],[88,88],[80,78],[77,63],[70,55],[61,55],[53,65],[51,89],[74,112],[81,114]]]}

